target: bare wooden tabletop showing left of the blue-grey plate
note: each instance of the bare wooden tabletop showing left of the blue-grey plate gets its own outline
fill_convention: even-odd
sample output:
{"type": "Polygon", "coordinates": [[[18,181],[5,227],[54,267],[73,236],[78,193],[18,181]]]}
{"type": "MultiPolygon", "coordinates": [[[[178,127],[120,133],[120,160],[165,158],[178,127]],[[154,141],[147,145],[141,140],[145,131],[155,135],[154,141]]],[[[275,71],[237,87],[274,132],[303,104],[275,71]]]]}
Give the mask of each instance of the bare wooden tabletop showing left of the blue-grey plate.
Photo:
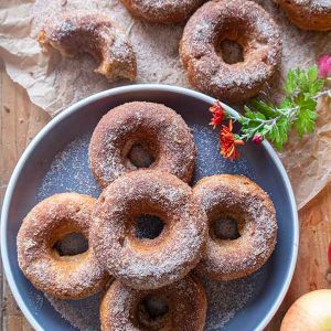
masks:
{"type": "MultiPolygon", "coordinates": [[[[31,104],[25,90],[14,84],[3,66],[0,72],[0,199],[2,202],[13,168],[31,139],[50,120],[50,116],[31,104]]],[[[1,330],[33,330],[19,310],[8,284],[1,277],[1,330]]]]}

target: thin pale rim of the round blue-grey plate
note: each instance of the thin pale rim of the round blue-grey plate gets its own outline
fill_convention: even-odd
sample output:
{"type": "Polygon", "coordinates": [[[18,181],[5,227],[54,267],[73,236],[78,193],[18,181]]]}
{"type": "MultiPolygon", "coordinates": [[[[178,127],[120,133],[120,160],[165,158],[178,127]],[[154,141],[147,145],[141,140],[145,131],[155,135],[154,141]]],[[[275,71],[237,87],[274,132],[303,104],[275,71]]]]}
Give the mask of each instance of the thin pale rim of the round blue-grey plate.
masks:
{"type": "MultiPolygon", "coordinates": [[[[211,105],[213,105],[216,102],[215,98],[210,97],[207,95],[204,95],[204,94],[202,94],[200,92],[196,92],[196,90],[193,90],[193,89],[189,89],[189,88],[184,88],[184,87],[178,87],[178,86],[171,86],[171,85],[162,85],[162,84],[136,84],[136,85],[115,87],[115,88],[110,88],[110,89],[106,89],[106,90],[96,93],[94,95],[90,95],[90,96],[88,96],[88,97],[71,105],[70,107],[67,107],[66,109],[64,109],[63,111],[57,114],[54,118],[52,118],[50,120],[50,122],[46,124],[40,130],[40,132],[31,140],[31,142],[28,145],[28,147],[23,151],[22,156],[20,157],[20,159],[19,159],[19,161],[18,161],[17,166],[14,167],[14,170],[11,174],[11,178],[10,178],[9,183],[8,183],[6,194],[4,194],[4,197],[3,197],[2,210],[1,210],[1,227],[0,227],[1,247],[0,247],[0,250],[1,250],[3,271],[4,271],[4,275],[6,275],[7,281],[9,284],[10,290],[11,290],[19,308],[21,309],[22,313],[28,319],[30,324],[38,331],[44,331],[44,330],[40,325],[38,319],[26,308],[26,306],[25,306],[25,303],[22,299],[22,295],[18,290],[18,287],[17,287],[14,277],[12,275],[11,267],[10,267],[9,255],[8,255],[8,249],[7,249],[7,246],[8,246],[8,243],[7,243],[8,213],[9,213],[9,207],[10,207],[10,204],[11,204],[13,191],[14,191],[19,174],[21,173],[21,170],[22,170],[23,166],[28,161],[31,152],[35,149],[38,143],[60,121],[62,121],[63,119],[65,119],[70,115],[72,115],[76,111],[79,111],[82,106],[90,104],[90,103],[93,103],[93,102],[95,102],[99,98],[110,97],[110,96],[114,96],[114,95],[117,95],[117,94],[122,94],[122,93],[128,93],[128,92],[138,92],[138,90],[158,90],[158,92],[179,93],[179,94],[183,94],[183,95],[186,95],[186,96],[191,96],[191,97],[202,99],[202,100],[204,100],[204,102],[206,102],[211,105]]],[[[222,103],[222,105],[224,106],[226,111],[231,113],[235,117],[238,117],[238,113],[236,110],[234,110],[233,108],[231,108],[229,106],[227,106],[223,103],[222,103]]],[[[280,305],[281,305],[281,302],[282,302],[282,300],[284,300],[284,298],[285,298],[285,296],[286,296],[286,293],[289,289],[290,282],[291,282],[292,277],[293,277],[296,264],[297,264],[298,248],[299,248],[299,217],[298,217],[298,211],[297,211],[297,203],[296,203],[296,200],[295,200],[295,194],[293,194],[293,191],[292,191],[290,180],[288,178],[288,174],[287,174],[287,172],[286,172],[278,154],[276,153],[276,151],[274,150],[271,145],[268,141],[263,141],[263,146],[266,149],[266,151],[268,152],[268,154],[270,156],[270,158],[273,159],[273,161],[275,162],[275,166],[277,167],[278,171],[280,172],[280,174],[284,179],[286,190],[287,190],[287,193],[288,193],[288,196],[289,196],[289,200],[290,200],[292,220],[293,220],[293,223],[295,223],[293,224],[295,237],[293,237],[293,244],[292,244],[293,254],[291,256],[290,267],[289,267],[288,273],[286,275],[286,281],[281,287],[281,291],[277,295],[277,299],[274,302],[271,309],[269,309],[269,312],[264,317],[264,319],[260,321],[260,323],[255,328],[255,330],[258,330],[258,331],[261,331],[270,322],[270,320],[276,314],[278,308],[280,307],[280,305]]]]}

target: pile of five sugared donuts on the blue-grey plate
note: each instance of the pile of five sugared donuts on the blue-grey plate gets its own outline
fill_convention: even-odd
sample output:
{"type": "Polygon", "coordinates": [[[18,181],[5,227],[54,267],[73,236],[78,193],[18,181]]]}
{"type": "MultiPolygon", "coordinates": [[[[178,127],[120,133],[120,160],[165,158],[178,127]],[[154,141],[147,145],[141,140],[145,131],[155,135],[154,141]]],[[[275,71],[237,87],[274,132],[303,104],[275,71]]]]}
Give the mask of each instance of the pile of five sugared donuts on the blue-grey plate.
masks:
{"type": "Polygon", "coordinates": [[[102,330],[203,330],[200,279],[260,268],[275,249],[277,221],[267,193],[246,177],[216,174],[190,186],[195,156],[174,110],[142,102],[111,109],[88,151],[102,194],[56,194],[29,212],[17,239],[25,277],[60,299],[104,290],[102,330]],[[60,254],[56,244],[72,233],[87,250],[60,254]]]}

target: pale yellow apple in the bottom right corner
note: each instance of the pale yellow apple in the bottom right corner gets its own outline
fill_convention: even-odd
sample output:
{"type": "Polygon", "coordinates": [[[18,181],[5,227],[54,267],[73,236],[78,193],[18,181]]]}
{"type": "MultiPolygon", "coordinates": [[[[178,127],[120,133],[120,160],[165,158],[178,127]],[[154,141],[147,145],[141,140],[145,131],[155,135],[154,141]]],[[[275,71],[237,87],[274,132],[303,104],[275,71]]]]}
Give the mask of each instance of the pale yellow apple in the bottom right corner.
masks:
{"type": "Polygon", "coordinates": [[[331,289],[299,298],[286,313],[280,331],[331,331],[331,289]]]}

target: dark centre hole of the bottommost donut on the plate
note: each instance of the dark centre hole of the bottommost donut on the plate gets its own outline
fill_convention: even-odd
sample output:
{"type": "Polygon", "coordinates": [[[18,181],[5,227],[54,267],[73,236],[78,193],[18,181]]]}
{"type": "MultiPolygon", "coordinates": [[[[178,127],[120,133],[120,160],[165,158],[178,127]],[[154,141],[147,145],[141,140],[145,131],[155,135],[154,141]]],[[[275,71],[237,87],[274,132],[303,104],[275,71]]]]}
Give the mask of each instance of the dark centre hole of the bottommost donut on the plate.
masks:
{"type": "Polygon", "coordinates": [[[153,324],[162,327],[170,311],[166,298],[159,296],[147,296],[138,305],[138,323],[140,327],[150,328],[153,324]]]}

